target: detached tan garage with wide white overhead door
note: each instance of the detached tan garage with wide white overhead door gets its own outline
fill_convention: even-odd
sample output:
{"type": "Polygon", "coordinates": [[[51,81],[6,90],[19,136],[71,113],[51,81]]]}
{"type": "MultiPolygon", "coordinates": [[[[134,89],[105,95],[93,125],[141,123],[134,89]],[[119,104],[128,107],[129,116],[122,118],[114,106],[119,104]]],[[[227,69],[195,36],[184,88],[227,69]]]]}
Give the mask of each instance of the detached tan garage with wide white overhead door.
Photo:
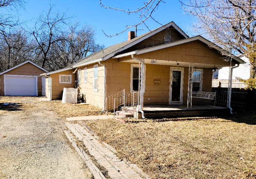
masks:
{"type": "Polygon", "coordinates": [[[40,74],[47,72],[31,61],[0,73],[1,96],[45,96],[45,77],[40,74]]]}

